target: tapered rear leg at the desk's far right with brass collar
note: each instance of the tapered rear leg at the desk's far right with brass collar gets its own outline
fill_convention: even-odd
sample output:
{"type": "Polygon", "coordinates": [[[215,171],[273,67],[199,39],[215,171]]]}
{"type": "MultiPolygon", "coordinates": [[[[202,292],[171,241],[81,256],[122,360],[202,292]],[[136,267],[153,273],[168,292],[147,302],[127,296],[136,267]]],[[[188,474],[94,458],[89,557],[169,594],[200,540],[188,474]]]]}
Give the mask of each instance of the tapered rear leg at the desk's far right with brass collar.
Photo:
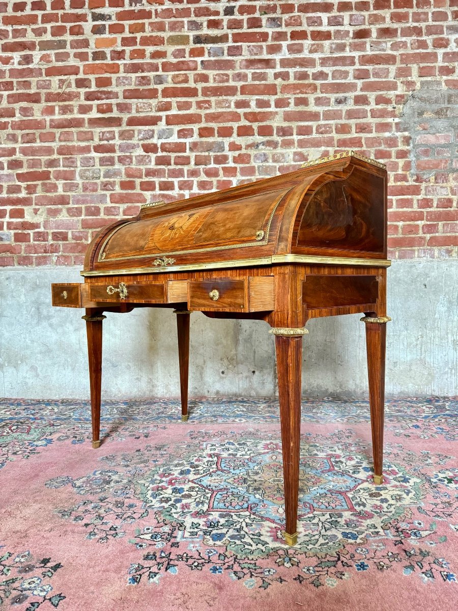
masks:
{"type": "Polygon", "coordinates": [[[369,404],[374,455],[374,483],[383,482],[383,419],[385,412],[385,347],[389,316],[364,316],[368,355],[369,404]]]}

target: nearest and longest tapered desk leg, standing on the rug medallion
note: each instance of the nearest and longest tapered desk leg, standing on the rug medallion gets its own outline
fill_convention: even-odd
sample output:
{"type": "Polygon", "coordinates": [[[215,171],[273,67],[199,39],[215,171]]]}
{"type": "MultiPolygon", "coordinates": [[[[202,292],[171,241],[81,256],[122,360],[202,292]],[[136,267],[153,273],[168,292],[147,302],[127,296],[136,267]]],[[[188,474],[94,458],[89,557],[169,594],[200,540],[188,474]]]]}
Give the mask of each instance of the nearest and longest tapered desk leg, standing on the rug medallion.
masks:
{"type": "Polygon", "coordinates": [[[297,543],[299,496],[300,390],[302,335],[307,329],[271,329],[277,353],[278,398],[282,428],[283,481],[285,483],[285,541],[297,543]]]}

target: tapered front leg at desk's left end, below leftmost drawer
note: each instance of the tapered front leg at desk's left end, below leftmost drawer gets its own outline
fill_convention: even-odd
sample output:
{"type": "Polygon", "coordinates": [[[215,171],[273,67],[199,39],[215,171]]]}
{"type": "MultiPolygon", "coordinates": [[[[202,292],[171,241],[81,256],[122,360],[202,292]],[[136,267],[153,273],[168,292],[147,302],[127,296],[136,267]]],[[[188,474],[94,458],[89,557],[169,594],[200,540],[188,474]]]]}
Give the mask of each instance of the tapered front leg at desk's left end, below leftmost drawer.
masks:
{"type": "MultiPolygon", "coordinates": [[[[86,310],[87,312],[88,310],[86,310]]],[[[90,407],[92,414],[92,447],[100,447],[100,393],[102,387],[102,321],[103,314],[82,316],[86,321],[89,357],[90,407]]]]}

